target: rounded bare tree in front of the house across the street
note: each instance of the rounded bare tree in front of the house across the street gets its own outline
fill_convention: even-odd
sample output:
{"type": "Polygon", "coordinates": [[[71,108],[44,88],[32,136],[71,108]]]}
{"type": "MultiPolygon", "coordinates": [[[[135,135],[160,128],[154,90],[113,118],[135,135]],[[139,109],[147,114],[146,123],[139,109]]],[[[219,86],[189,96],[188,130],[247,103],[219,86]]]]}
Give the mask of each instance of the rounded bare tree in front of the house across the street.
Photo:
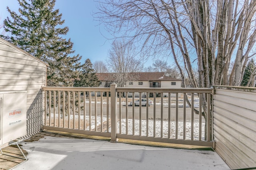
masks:
{"type": "Polygon", "coordinates": [[[108,51],[108,70],[113,72],[116,83],[124,87],[126,82],[136,80],[134,72],[140,72],[143,68],[141,61],[132,43],[126,43],[124,39],[115,40],[108,51]]]}

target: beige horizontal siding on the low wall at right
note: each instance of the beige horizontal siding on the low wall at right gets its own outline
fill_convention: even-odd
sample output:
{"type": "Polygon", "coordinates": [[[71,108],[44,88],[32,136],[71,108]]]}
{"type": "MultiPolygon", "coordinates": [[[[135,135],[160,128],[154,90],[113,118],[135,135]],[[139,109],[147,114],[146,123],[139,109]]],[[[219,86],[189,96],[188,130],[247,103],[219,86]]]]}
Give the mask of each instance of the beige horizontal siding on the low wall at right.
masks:
{"type": "Polygon", "coordinates": [[[215,150],[232,169],[256,167],[256,88],[215,87],[215,150]]]}

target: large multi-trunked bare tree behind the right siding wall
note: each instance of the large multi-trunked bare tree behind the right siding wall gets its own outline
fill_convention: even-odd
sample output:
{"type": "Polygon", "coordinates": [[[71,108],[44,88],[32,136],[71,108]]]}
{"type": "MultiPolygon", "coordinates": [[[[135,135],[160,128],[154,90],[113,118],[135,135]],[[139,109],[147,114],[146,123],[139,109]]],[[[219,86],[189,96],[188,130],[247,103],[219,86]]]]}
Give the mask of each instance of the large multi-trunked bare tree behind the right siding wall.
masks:
{"type": "MultiPolygon", "coordinates": [[[[96,17],[112,35],[140,42],[148,55],[169,53],[183,87],[182,66],[193,87],[239,86],[248,59],[255,55],[256,0],[106,0],[98,9],[96,17]]],[[[204,117],[206,106],[203,96],[204,117]]]]}

